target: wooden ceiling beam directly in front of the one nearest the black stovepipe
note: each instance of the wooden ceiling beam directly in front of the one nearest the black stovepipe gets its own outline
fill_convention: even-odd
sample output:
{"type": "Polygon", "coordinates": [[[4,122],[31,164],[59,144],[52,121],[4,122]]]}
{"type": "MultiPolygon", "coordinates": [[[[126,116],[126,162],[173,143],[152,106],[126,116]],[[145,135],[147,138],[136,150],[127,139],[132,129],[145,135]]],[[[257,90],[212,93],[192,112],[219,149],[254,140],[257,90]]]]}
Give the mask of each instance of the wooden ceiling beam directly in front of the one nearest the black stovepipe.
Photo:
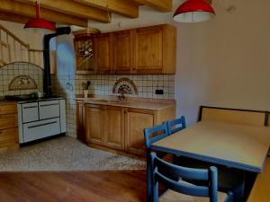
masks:
{"type": "MultiPolygon", "coordinates": [[[[27,4],[36,4],[36,0],[16,0],[27,4]]],[[[87,4],[79,4],[71,0],[42,0],[40,7],[47,8],[60,13],[75,15],[78,17],[92,19],[99,22],[111,22],[111,13],[95,8],[87,4]]]]}

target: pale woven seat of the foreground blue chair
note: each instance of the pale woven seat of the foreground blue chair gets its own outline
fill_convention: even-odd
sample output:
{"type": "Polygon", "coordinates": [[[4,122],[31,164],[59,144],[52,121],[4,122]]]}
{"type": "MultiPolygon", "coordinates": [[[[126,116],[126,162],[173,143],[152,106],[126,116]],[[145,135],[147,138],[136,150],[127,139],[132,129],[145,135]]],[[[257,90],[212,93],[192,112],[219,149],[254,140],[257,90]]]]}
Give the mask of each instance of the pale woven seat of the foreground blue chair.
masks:
{"type": "MultiPolygon", "coordinates": [[[[218,192],[218,202],[226,202],[228,194],[218,192]]],[[[158,202],[209,202],[209,198],[193,197],[168,189],[158,198],[158,202]]]]}

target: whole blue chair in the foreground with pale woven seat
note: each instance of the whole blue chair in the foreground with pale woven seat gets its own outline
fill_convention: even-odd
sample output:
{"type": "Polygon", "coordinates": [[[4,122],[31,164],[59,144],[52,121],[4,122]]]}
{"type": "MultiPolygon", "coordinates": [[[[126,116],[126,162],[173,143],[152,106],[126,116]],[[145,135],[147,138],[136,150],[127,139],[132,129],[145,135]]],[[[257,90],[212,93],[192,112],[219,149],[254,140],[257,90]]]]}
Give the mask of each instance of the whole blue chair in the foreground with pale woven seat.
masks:
{"type": "Polygon", "coordinates": [[[209,169],[193,169],[177,166],[157,157],[151,153],[153,202],[232,202],[233,194],[218,192],[218,171],[216,167],[209,169]],[[167,177],[165,173],[178,177],[177,180],[167,177]],[[164,173],[165,172],[165,173],[164,173]],[[198,180],[208,182],[208,186],[198,186],[185,180],[198,180]],[[158,198],[158,182],[168,190],[158,198]]]}

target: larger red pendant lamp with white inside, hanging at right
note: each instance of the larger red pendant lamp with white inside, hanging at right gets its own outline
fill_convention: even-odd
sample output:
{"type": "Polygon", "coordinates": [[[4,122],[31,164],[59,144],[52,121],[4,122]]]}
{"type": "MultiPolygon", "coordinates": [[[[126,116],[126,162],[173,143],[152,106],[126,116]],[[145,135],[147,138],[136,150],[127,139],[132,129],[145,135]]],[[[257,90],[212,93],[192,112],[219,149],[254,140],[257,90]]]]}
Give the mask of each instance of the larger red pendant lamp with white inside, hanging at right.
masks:
{"type": "Polygon", "coordinates": [[[174,14],[175,22],[203,22],[215,16],[210,4],[204,0],[187,0],[180,4],[174,14]]]}

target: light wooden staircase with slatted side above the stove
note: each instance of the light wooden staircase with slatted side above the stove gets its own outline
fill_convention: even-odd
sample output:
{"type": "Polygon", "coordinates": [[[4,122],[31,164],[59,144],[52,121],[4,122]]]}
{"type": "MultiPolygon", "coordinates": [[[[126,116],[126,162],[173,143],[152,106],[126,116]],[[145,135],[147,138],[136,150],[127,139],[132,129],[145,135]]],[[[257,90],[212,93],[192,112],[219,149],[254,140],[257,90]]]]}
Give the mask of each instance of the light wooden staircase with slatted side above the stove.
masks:
{"type": "Polygon", "coordinates": [[[14,62],[29,62],[43,68],[43,50],[31,49],[0,24],[0,67],[14,62]]]}

